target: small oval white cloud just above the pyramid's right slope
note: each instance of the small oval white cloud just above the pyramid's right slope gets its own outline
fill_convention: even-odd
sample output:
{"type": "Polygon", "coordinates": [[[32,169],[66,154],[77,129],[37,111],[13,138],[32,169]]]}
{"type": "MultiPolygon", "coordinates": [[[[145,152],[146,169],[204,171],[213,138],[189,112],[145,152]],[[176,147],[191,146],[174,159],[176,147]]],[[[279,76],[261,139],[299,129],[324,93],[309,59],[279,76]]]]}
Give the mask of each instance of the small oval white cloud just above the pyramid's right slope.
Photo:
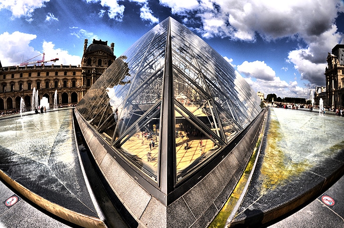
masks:
{"type": "Polygon", "coordinates": [[[237,70],[248,77],[262,79],[264,81],[273,81],[276,76],[275,71],[266,65],[264,61],[245,61],[237,66],[237,70]]]}

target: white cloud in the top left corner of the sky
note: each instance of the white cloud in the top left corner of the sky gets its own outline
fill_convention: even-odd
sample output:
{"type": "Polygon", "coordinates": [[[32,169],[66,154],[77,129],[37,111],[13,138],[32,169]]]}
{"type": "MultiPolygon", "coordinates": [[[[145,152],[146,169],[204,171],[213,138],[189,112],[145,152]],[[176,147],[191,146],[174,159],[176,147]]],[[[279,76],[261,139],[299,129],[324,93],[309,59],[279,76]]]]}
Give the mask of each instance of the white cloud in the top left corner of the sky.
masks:
{"type": "Polygon", "coordinates": [[[0,10],[8,9],[13,17],[31,17],[36,8],[44,7],[44,2],[50,0],[1,0],[0,10]]]}

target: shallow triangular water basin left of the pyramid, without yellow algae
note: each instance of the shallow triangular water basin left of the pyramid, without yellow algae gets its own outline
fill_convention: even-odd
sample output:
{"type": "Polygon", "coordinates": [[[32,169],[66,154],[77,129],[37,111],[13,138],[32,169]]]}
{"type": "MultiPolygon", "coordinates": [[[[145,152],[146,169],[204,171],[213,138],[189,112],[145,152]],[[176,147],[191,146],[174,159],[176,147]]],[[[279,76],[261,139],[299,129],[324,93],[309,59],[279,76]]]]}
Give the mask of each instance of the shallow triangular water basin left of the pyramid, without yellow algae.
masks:
{"type": "Polygon", "coordinates": [[[0,172],[47,204],[98,218],[81,171],[72,112],[0,119],[0,172]]]}

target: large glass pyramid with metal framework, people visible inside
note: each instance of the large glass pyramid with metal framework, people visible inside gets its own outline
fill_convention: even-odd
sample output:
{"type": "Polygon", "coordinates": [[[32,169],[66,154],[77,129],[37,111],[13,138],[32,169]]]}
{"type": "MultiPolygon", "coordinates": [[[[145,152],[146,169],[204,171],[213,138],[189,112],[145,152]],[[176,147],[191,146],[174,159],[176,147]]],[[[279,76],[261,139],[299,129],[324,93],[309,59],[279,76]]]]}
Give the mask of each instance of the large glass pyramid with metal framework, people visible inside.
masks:
{"type": "Polygon", "coordinates": [[[260,104],[225,59],[169,17],[117,58],[76,110],[168,194],[225,149],[260,104]]]}

